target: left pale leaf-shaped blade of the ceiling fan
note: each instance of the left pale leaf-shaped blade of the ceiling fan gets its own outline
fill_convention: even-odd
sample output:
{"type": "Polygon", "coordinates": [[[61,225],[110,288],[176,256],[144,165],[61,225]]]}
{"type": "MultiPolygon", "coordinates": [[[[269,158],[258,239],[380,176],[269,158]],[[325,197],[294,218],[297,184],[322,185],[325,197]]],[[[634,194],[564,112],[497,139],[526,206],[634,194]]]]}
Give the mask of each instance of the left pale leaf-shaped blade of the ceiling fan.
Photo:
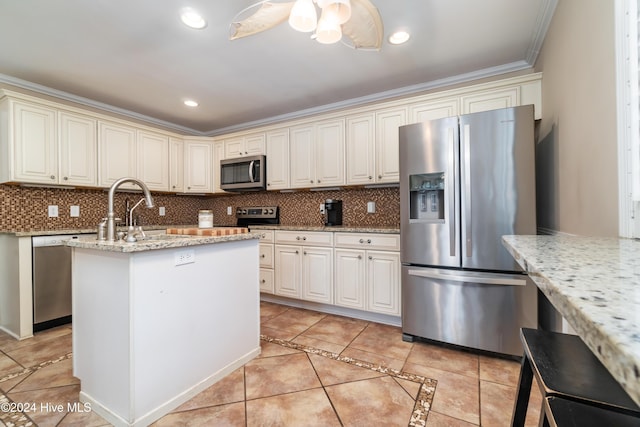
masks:
{"type": "Polygon", "coordinates": [[[231,22],[229,40],[247,37],[283,23],[289,18],[293,3],[295,2],[273,3],[270,1],[261,1],[249,6],[238,13],[231,22]],[[238,17],[245,15],[246,12],[256,7],[258,9],[253,14],[241,21],[236,21],[238,17]]]}

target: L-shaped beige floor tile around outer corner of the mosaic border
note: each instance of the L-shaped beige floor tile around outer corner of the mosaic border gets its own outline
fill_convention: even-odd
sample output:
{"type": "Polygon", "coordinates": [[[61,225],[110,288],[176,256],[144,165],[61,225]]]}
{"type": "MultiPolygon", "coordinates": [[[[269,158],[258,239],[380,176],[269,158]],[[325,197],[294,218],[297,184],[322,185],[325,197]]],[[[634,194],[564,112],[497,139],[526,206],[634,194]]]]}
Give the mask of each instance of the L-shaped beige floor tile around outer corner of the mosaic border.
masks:
{"type": "Polygon", "coordinates": [[[455,372],[407,363],[405,371],[438,381],[431,408],[441,414],[480,423],[479,380],[455,372]]]}

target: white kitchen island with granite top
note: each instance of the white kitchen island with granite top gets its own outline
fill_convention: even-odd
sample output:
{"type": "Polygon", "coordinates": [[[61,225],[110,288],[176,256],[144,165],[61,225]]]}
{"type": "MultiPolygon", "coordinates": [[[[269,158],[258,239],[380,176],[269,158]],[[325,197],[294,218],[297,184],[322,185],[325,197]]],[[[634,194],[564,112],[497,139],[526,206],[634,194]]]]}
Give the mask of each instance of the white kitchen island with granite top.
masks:
{"type": "Polygon", "coordinates": [[[258,238],[69,242],[80,401],[148,425],[256,357],[258,238]]]}

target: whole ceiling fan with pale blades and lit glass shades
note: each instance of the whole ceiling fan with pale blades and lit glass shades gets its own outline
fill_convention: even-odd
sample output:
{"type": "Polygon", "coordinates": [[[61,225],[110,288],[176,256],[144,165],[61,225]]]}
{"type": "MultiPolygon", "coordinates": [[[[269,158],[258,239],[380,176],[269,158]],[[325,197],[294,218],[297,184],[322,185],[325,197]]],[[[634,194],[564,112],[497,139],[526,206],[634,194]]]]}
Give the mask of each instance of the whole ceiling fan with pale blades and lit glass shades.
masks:
{"type": "Polygon", "coordinates": [[[311,38],[319,43],[342,41],[354,49],[382,47],[382,18],[369,0],[260,1],[233,18],[229,40],[268,30],[286,20],[297,31],[314,31],[311,38]]]}

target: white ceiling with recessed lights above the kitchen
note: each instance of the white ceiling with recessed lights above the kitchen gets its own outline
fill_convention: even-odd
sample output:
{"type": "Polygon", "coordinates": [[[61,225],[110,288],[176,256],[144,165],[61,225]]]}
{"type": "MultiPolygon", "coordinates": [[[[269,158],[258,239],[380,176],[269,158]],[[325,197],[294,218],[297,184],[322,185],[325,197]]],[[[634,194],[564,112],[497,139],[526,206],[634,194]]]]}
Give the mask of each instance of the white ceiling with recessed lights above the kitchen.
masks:
{"type": "Polygon", "coordinates": [[[385,39],[412,35],[379,52],[321,45],[286,23],[229,41],[256,2],[0,0],[0,83],[214,135],[529,68],[557,0],[372,0],[385,39]],[[183,25],[185,6],[208,26],[183,25]]]}

